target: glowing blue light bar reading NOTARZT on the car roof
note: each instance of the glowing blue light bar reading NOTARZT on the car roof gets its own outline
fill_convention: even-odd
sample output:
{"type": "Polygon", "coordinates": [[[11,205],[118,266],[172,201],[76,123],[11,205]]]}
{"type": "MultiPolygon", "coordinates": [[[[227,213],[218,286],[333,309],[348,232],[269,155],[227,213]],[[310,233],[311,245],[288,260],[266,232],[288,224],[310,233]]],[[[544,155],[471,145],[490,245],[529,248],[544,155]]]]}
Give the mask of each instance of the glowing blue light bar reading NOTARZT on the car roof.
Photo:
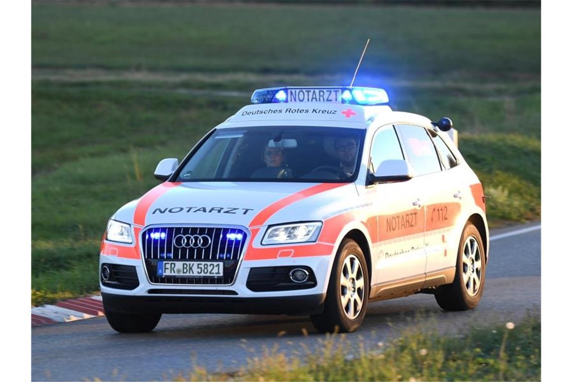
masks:
{"type": "Polygon", "coordinates": [[[337,103],[386,105],[390,102],[384,89],[363,87],[285,87],[258,89],[251,97],[253,104],[272,103],[337,103]]]}

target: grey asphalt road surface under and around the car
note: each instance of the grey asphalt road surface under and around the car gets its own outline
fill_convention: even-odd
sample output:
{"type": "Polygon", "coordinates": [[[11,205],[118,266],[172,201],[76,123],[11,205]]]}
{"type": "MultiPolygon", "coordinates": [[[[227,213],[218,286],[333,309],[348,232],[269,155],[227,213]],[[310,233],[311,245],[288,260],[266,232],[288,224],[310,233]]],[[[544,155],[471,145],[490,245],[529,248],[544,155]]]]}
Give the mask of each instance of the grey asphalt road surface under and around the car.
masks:
{"type": "MultiPolygon", "coordinates": [[[[374,348],[414,325],[454,334],[540,316],[541,231],[504,236],[539,225],[490,232],[486,286],[476,309],[444,312],[428,294],[379,301],[368,305],[362,326],[347,340],[374,348]]],[[[306,317],[164,314],[145,334],[119,334],[104,317],[91,318],[32,328],[32,380],[171,380],[187,375],[193,362],[208,371],[236,371],[264,348],[276,345],[289,355],[323,339],[306,317]]]]}

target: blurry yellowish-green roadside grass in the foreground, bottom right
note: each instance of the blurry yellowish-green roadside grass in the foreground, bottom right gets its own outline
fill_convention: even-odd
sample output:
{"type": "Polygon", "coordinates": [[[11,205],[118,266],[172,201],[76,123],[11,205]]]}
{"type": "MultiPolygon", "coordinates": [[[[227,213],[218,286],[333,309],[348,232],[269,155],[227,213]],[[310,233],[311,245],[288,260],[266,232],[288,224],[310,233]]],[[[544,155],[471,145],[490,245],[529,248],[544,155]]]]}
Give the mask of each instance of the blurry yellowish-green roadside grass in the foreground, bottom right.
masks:
{"type": "MultiPolygon", "coordinates": [[[[508,323],[509,324],[509,323],[508,323]]],[[[506,324],[506,325],[508,325],[506,324]]],[[[513,324],[513,323],[511,323],[513,324]]],[[[510,326],[511,327],[511,326],[510,326]]],[[[235,373],[207,373],[197,365],[178,381],[443,381],[540,380],[541,323],[528,317],[514,329],[479,328],[446,335],[406,329],[388,344],[356,349],[344,335],[327,336],[315,348],[301,344],[298,355],[277,347],[253,357],[235,373]]],[[[374,344],[372,344],[374,345],[374,344]]]]}

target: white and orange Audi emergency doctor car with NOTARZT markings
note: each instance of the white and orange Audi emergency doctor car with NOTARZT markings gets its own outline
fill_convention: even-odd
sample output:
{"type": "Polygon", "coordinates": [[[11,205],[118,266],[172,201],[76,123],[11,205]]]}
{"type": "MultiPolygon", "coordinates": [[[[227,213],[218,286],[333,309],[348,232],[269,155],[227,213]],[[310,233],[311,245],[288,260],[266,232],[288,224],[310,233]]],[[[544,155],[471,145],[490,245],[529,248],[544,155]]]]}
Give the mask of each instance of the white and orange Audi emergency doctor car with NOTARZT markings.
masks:
{"type": "Polygon", "coordinates": [[[256,90],[163,183],[121,207],[100,249],[105,315],[147,332],[162,313],[309,315],[358,328],[376,300],[484,292],[480,181],[437,123],[393,111],[383,89],[256,90]]]}

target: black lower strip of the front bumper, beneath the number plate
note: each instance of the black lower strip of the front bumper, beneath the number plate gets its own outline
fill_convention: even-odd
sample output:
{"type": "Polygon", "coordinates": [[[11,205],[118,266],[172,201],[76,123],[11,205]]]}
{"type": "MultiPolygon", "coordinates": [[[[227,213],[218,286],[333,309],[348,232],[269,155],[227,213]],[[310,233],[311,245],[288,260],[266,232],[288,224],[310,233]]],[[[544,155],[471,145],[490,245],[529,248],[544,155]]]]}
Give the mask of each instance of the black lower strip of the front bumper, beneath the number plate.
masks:
{"type": "Polygon", "coordinates": [[[104,310],[118,313],[319,314],[325,293],[285,297],[126,296],[101,293],[104,310]]]}

